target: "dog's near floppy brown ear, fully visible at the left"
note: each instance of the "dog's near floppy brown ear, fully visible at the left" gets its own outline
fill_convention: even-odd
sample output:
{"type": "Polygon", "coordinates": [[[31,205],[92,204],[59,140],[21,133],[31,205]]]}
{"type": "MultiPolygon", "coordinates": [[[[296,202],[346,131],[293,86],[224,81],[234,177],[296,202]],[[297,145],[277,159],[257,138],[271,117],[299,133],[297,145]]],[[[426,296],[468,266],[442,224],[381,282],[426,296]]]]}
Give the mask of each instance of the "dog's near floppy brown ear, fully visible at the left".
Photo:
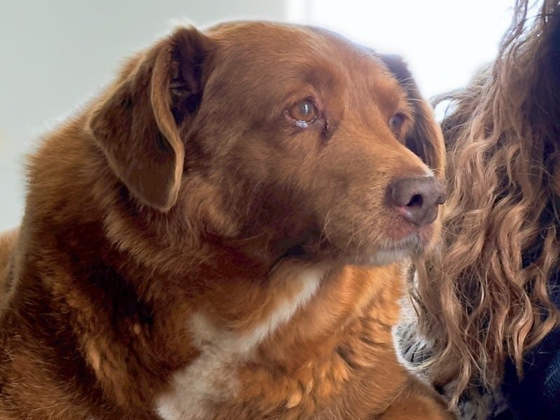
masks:
{"type": "Polygon", "coordinates": [[[202,99],[209,48],[196,29],[176,30],[128,63],[87,123],[132,195],[161,211],[177,199],[185,156],[179,126],[202,99]]]}

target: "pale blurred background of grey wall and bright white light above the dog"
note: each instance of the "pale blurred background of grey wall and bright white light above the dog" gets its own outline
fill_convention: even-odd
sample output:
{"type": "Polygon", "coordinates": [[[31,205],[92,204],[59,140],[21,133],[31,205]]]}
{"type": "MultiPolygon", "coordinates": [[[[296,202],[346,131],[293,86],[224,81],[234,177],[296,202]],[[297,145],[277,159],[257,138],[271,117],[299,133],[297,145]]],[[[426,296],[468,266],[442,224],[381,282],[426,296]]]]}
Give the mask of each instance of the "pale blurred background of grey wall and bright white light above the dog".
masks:
{"type": "MultiPolygon", "coordinates": [[[[0,231],[20,223],[25,156],[115,75],[123,57],[186,19],[329,27],[403,55],[430,97],[489,62],[514,0],[50,0],[0,2],[0,231]]],[[[64,153],[64,151],[61,151],[64,153]]]]}

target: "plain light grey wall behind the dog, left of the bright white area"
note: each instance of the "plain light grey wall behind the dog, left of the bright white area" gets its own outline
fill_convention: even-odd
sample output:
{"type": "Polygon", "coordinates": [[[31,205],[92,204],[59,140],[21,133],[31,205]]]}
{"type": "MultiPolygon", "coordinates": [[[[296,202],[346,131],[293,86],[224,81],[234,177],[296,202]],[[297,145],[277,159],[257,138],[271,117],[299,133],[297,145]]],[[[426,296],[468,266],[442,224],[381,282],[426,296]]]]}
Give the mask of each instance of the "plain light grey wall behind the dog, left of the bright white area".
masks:
{"type": "MultiPolygon", "coordinates": [[[[0,231],[23,214],[25,154],[178,18],[285,20],[284,0],[0,2],[0,231]]],[[[64,151],[61,151],[64,153],[64,151]]]]}

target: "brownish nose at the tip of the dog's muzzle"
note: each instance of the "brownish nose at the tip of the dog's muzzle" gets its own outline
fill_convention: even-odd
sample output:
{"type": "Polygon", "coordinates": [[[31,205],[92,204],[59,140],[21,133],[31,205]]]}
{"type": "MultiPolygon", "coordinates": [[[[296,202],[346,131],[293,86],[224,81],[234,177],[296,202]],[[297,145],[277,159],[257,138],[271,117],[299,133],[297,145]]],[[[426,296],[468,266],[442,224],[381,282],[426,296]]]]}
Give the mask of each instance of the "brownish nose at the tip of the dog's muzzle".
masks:
{"type": "Polygon", "coordinates": [[[387,193],[389,205],[419,226],[435,221],[437,206],[445,201],[445,187],[433,176],[395,179],[387,193]]]}

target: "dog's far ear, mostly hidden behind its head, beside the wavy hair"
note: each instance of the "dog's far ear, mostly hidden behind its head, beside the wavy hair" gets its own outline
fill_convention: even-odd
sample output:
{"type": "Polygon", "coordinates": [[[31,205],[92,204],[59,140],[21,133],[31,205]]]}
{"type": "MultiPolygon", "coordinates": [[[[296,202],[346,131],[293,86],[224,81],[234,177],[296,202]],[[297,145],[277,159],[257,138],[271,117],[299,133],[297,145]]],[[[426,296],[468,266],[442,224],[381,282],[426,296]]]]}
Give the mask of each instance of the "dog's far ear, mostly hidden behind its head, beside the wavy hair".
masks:
{"type": "Polygon", "coordinates": [[[407,147],[433,169],[438,178],[443,179],[445,146],[440,125],[436,123],[431,107],[420,94],[407,64],[400,55],[380,55],[380,57],[405,90],[414,112],[414,125],[406,137],[407,147]]]}

